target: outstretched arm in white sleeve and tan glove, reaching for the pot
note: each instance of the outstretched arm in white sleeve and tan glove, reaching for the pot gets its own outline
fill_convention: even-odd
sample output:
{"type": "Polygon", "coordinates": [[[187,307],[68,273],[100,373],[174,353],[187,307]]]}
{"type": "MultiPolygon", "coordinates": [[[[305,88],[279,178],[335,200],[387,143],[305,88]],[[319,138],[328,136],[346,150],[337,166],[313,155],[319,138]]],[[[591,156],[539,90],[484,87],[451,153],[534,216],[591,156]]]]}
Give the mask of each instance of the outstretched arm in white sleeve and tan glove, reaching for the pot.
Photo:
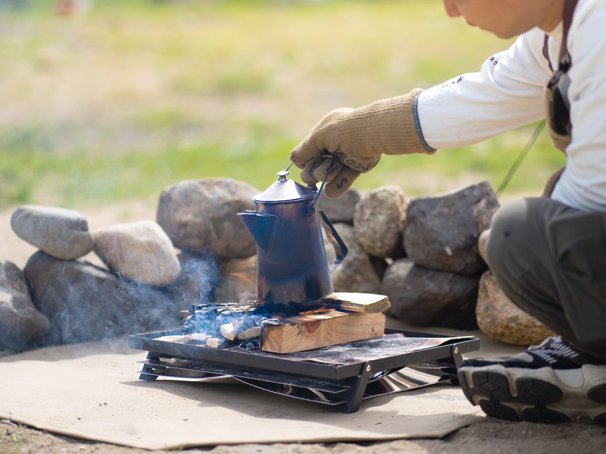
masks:
{"type": "Polygon", "coordinates": [[[538,120],[544,116],[542,91],[550,76],[541,53],[543,36],[534,30],[525,34],[489,58],[479,73],[357,109],[333,110],[290,159],[303,169],[305,183],[327,176],[325,194],[338,197],[382,154],[432,154],[538,120]]]}

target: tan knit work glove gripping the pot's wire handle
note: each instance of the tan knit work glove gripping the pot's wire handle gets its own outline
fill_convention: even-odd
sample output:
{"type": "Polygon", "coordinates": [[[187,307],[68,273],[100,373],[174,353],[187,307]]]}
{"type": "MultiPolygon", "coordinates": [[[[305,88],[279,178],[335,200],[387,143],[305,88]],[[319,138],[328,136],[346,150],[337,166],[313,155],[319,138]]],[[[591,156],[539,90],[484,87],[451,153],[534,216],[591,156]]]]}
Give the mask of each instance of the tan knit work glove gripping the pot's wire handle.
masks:
{"type": "Polygon", "coordinates": [[[413,117],[413,102],[421,91],[328,113],[290,153],[290,160],[303,169],[301,179],[308,185],[324,180],[331,163],[326,156],[335,156],[324,193],[336,199],[361,173],[374,168],[383,153],[435,153],[421,143],[413,117]]]}

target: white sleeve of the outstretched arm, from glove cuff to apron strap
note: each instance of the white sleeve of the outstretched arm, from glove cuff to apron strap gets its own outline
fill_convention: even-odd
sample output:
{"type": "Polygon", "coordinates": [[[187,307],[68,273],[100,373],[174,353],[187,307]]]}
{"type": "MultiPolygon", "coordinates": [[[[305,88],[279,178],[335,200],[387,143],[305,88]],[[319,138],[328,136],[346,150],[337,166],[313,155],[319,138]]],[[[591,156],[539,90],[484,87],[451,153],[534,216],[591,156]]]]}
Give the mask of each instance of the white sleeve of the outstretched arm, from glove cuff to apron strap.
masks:
{"type": "Polygon", "coordinates": [[[478,73],[421,93],[417,114],[425,142],[432,148],[471,145],[544,118],[544,87],[551,77],[544,36],[534,28],[488,58],[478,73]]]}

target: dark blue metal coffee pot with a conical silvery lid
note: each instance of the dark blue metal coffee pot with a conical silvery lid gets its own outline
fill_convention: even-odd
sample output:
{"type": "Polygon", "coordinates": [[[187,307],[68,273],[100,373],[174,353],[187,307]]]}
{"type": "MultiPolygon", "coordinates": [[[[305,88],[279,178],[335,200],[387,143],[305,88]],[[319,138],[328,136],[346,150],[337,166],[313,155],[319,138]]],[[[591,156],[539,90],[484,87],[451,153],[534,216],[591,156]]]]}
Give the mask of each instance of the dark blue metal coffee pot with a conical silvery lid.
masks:
{"type": "Polygon", "coordinates": [[[333,293],[330,272],[347,255],[335,227],[316,207],[324,183],[319,190],[305,187],[288,180],[287,170],[253,198],[256,211],[238,213],[257,243],[259,304],[276,312],[309,310],[333,293]],[[321,225],[336,252],[330,270],[321,225]]]}

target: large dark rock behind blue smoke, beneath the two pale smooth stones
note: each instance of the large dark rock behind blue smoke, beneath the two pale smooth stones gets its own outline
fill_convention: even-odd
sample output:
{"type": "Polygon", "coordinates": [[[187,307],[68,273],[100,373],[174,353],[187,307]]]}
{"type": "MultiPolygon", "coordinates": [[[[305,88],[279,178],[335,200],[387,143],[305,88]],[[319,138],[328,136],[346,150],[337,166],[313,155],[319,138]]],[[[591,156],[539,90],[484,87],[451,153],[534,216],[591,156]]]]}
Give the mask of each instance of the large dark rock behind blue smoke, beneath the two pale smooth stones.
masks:
{"type": "Polygon", "coordinates": [[[24,274],[32,302],[50,320],[47,342],[76,343],[178,327],[175,303],[150,286],[81,260],[32,255],[24,274]]]}

